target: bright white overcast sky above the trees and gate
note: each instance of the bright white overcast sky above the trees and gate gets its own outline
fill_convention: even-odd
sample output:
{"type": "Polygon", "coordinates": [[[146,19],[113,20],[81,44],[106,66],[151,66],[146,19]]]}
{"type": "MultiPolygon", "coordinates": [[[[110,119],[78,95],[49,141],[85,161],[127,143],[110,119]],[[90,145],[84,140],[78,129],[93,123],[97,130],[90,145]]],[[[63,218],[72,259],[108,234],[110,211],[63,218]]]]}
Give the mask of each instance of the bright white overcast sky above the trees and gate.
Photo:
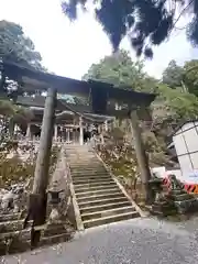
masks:
{"type": "MultiPolygon", "coordinates": [[[[41,53],[43,65],[57,75],[80,79],[91,64],[112,52],[108,37],[90,13],[81,13],[77,22],[70,23],[59,0],[0,0],[0,20],[22,25],[41,53]]],[[[130,51],[132,59],[136,59],[127,38],[121,48],[130,51]]],[[[154,48],[154,58],[145,62],[145,70],[160,78],[170,59],[183,65],[191,58],[198,58],[198,50],[179,31],[154,48]]]]}

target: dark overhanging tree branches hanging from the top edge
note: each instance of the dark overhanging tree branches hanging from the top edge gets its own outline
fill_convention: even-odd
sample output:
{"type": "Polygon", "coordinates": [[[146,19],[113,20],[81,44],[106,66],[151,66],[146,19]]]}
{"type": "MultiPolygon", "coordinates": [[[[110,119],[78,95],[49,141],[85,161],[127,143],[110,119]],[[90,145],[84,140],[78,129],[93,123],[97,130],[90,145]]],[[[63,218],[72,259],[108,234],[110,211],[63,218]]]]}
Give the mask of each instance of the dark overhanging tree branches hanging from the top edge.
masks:
{"type": "Polygon", "coordinates": [[[128,36],[136,55],[143,53],[146,57],[152,57],[151,47],[164,42],[177,28],[179,19],[185,18],[186,14],[191,20],[187,20],[184,29],[187,29],[188,38],[194,45],[198,44],[196,0],[65,0],[62,8],[70,20],[76,20],[77,7],[80,6],[86,10],[87,3],[95,3],[96,18],[114,51],[119,48],[123,37],[128,36]],[[178,10],[180,13],[176,12],[178,10]]]}

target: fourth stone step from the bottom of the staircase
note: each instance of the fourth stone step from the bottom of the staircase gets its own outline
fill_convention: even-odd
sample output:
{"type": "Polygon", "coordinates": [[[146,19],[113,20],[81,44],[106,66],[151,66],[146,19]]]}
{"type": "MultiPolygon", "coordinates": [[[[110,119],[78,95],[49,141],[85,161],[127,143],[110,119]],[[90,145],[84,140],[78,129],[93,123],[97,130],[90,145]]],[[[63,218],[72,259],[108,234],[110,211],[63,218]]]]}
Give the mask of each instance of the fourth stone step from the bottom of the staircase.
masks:
{"type": "Polygon", "coordinates": [[[121,202],[121,201],[128,201],[127,197],[109,197],[109,198],[103,198],[100,200],[92,200],[92,201],[81,201],[78,202],[79,209],[84,209],[87,207],[94,207],[94,206],[103,206],[103,205],[109,205],[112,202],[121,202]]]}

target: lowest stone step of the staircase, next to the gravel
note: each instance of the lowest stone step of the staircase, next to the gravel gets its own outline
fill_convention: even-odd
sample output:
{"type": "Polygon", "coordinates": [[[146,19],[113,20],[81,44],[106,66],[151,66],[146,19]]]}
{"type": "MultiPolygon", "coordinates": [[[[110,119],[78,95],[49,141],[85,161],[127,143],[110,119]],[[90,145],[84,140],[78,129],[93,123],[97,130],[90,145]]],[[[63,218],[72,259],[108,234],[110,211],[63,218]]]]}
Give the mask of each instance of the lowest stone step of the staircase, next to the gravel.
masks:
{"type": "Polygon", "coordinates": [[[107,223],[129,220],[129,219],[133,219],[133,218],[138,218],[138,217],[140,217],[140,215],[136,211],[125,212],[125,213],[120,213],[120,215],[116,215],[116,216],[109,216],[109,217],[105,217],[105,218],[98,218],[98,219],[91,219],[91,220],[84,221],[84,227],[92,228],[92,227],[102,226],[102,224],[107,224],[107,223]]]}

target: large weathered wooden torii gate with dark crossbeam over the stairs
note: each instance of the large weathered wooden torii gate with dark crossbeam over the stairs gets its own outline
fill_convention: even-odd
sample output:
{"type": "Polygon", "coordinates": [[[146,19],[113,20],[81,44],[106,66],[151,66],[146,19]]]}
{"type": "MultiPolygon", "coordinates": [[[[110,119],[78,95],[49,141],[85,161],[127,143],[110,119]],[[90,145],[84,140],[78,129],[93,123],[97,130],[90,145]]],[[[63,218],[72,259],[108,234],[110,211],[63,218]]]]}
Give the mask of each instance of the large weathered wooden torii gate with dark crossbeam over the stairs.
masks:
{"type": "Polygon", "coordinates": [[[96,80],[75,80],[48,73],[33,70],[9,62],[1,64],[1,66],[6,76],[10,79],[19,81],[24,89],[47,90],[40,151],[34,174],[34,185],[30,199],[30,211],[36,208],[36,213],[35,211],[33,212],[35,226],[43,224],[45,221],[46,187],[48,183],[51,154],[50,150],[52,147],[57,92],[89,97],[94,113],[127,117],[130,119],[143,189],[145,191],[146,201],[150,200],[151,190],[148,180],[151,178],[151,173],[147,158],[142,146],[138,116],[142,113],[142,110],[145,110],[151,105],[151,102],[155,99],[155,95],[133,91],[131,88],[119,88],[113,85],[96,80]],[[109,100],[114,100],[120,105],[127,106],[127,108],[124,110],[109,109],[109,100]]]}

